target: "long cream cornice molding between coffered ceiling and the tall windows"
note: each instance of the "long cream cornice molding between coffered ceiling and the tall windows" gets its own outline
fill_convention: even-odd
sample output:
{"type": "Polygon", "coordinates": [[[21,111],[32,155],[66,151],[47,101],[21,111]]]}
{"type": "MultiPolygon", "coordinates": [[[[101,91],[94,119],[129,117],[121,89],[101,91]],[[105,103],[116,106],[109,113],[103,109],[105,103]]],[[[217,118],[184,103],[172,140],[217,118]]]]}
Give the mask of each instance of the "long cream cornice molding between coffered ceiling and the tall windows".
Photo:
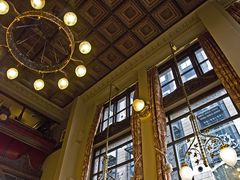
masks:
{"type": "MultiPolygon", "coordinates": [[[[170,54],[168,43],[178,39],[180,36],[183,36],[184,32],[188,31],[189,29],[194,29],[194,33],[196,35],[205,30],[195,12],[186,16],[183,20],[172,26],[168,31],[161,34],[158,38],[120,65],[117,69],[113,70],[110,74],[97,82],[83,95],[81,95],[81,97],[83,97],[85,100],[89,100],[94,99],[94,97],[99,97],[100,94],[106,95],[106,88],[109,86],[110,82],[119,84],[119,81],[124,81],[126,79],[129,80],[129,78],[126,77],[130,76],[129,74],[137,73],[141,68],[149,69],[151,66],[156,65],[161,59],[164,59],[160,57],[162,55],[161,51],[164,48],[164,51],[166,51],[167,47],[167,51],[169,51],[168,55],[170,54]]],[[[184,36],[186,36],[186,39],[189,39],[188,36],[192,36],[192,34],[186,33],[184,36]]],[[[134,78],[134,80],[137,81],[137,75],[132,76],[131,78],[134,78]]],[[[129,82],[133,83],[134,80],[129,80],[129,82]]],[[[125,81],[127,84],[129,82],[125,81]]]]}

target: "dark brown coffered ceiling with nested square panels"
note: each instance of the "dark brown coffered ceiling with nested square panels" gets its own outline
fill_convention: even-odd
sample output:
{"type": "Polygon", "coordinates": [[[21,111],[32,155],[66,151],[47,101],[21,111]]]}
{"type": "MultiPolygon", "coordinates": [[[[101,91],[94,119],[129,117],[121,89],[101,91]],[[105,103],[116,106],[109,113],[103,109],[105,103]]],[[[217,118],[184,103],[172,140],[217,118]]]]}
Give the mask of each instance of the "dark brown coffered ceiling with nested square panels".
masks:
{"type": "MultiPolygon", "coordinates": [[[[88,40],[92,51],[82,55],[78,46],[74,58],[84,61],[87,75],[77,78],[74,70],[77,62],[70,62],[64,71],[70,85],[66,90],[59,90],[57,80],[62,73],[44,76],[45,88],[36,92],[60,107],[64,107],[81,95],[93,84],[117,68],[128,58],[141,50],[149,42],[184,18],[205,0],[47,0],[44,11],[51,12],[62,19],[67,11],[74,11],[78,16],[77,25],[71,27],[75,40],[88,40]]],[[[15,7],[24,12],[32,10],[30,0],[11,0],[15,7]]],[[[0,23],[8,26],[14,13],[0,17],[0,23]]],[[[48,28],[44,29],[47,33],[48,28]]],[[[1,29],[0,42],[5,41],[4,30],[1,29]]],[[[60,38],[60,36],[57,36],[60,38]]],[[[52,38],[54,39],[54,34],[52,38]]],[[[31,46],[30,46],[31,47],[31,46]]],[[[16,61],[5,48],[0,49],[0,73],[6,76],[10,66],[16,61]]],[[[32,91],[33,82],[39,74],[27,68],[18,67],[17,80],[32,91]]]]}

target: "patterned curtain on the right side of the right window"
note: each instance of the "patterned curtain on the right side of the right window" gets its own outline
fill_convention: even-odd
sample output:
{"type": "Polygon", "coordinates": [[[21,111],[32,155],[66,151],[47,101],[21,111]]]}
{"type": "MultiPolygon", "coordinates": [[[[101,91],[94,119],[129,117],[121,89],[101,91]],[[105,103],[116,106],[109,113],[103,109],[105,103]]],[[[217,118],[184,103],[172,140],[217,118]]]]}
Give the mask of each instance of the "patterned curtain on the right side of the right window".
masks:
{"type": "Polygon", "coordinates": [[[219,80],[240,109],[240,78],[209,32],[199,36],[199,42],[212,63],[219,80]]]}

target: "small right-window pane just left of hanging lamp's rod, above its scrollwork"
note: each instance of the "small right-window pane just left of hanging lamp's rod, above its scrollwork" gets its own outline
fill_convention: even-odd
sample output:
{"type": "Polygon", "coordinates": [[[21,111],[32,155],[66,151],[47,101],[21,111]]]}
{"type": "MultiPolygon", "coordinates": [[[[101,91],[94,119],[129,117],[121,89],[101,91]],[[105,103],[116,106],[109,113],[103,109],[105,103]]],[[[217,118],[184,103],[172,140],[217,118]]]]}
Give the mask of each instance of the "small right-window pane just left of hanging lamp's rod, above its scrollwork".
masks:
{"type": "Polygon", "coordinates": [[[192,134],[193,129],[189,118],[184,117],[181,120],[172,123],[172,131],[175,140],[192,134]]]}

